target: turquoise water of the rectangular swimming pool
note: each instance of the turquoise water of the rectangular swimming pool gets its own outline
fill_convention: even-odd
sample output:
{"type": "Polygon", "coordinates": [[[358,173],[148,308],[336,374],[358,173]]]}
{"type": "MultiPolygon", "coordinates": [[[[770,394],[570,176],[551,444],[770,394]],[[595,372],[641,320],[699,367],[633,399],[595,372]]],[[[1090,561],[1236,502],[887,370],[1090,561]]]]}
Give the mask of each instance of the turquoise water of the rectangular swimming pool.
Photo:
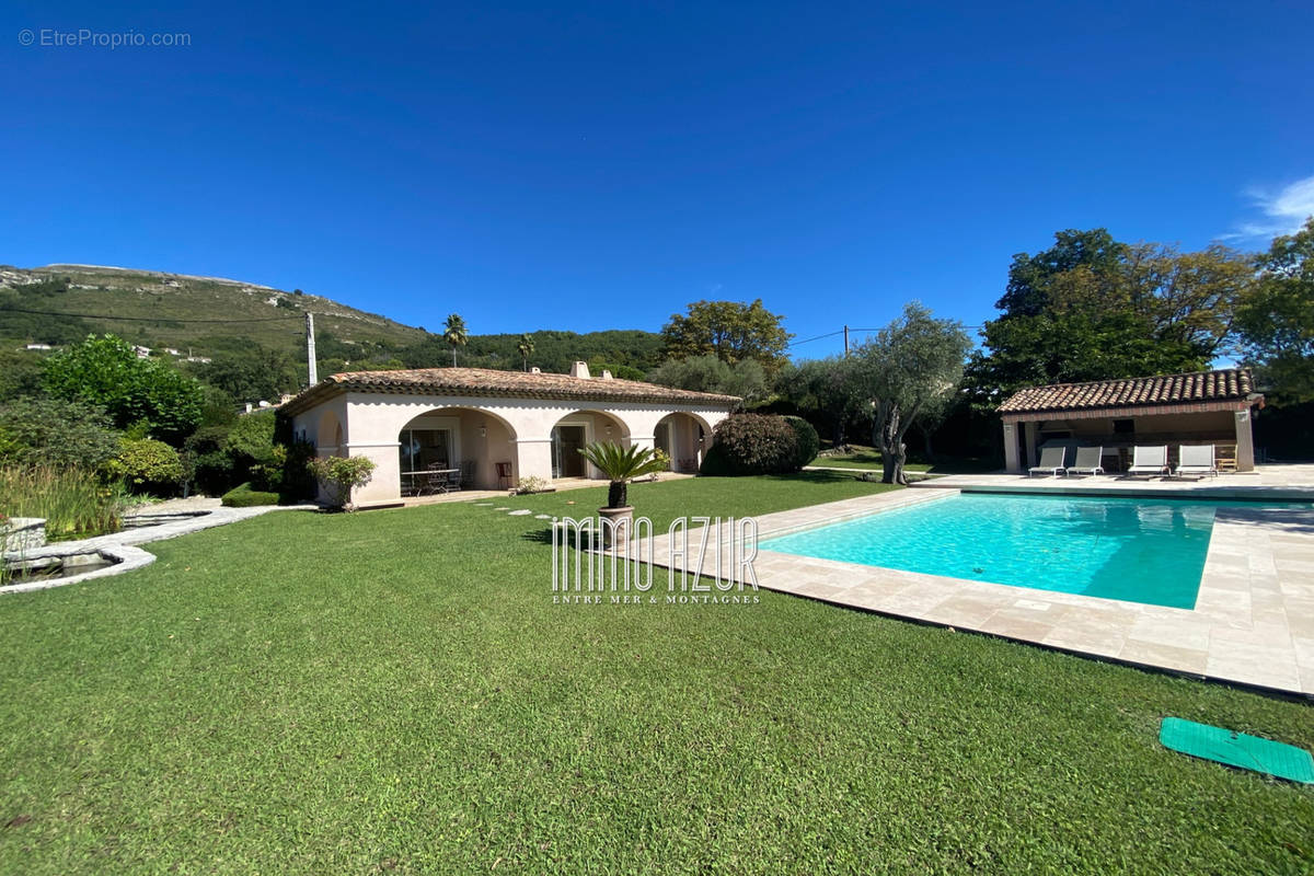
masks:
{"type": "Polygon", "coordinates": [[[1194,608],[1214,511],[1251,503],[957,495],[769,538],[762,550],[1194,608]]]}

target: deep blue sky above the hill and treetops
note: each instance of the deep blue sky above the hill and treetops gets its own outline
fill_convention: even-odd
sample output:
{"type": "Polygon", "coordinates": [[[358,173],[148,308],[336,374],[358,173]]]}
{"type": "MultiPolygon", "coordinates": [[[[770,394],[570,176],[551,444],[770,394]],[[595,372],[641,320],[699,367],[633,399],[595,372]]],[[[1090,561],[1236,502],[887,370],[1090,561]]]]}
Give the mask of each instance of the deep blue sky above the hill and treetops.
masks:
{"type": "Polygon", "coordinates": [[[912,298],[979,324],[1058,229],[1257,248],[1314,211],[1307,3],[0,20],[0,263],[219,274],[431,330],[656,331],[758,297],[800,340],[912,298]],[[49,45],[80,29],[191,45],[49,45]]]}

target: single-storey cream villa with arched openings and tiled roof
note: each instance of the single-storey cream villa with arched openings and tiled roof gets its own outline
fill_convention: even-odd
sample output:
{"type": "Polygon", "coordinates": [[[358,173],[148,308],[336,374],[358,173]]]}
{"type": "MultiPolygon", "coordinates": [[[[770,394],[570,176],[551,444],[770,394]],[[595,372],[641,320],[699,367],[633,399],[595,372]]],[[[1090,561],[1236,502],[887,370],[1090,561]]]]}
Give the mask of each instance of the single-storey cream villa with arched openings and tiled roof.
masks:
{"type": "Polygon", "coordinates": [[[593,441],[657,447],[675,471],[698,471],[712,428],[740,399],[639,381],[611,372],[569,374],[422,368],[334,374],[283,406],[319,456],[374,462],[360,506],[401,502],[430,473],[452,483],[507,489],[523,478],[595,478],[578,453],[593,441]]]}

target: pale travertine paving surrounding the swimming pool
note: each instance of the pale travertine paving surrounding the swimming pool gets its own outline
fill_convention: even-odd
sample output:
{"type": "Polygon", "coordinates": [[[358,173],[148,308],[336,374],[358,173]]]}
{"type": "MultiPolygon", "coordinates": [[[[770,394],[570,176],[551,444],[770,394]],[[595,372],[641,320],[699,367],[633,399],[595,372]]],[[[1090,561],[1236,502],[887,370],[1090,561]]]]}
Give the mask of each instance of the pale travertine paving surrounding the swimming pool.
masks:
{"type": "MultiPolygon", "coordinates": [[[[957,494],[900,490],[763,515],[757,519],[758,540],[957,494]]],[[[1173,495],[1204,498],[1196,491],[1173,495]]],[[[692,533],[690,540],[696,544],[692,533]]],[[[668,537],[656,537],[653,549],[654,561],[670,567],[668,537]]],[[[729,569],[728,556],[724,563],[729,569]]],[[[677,557],[675,569],[685,566],[677,557]]],[[[704,562],[703,574],[708,567],[704,562]]],[[[766,590],[1314,696],[1314,511],[1309,510],[1219,508],[1192,611],[770,550],[759,550],[753,567],[766,590]]]]}

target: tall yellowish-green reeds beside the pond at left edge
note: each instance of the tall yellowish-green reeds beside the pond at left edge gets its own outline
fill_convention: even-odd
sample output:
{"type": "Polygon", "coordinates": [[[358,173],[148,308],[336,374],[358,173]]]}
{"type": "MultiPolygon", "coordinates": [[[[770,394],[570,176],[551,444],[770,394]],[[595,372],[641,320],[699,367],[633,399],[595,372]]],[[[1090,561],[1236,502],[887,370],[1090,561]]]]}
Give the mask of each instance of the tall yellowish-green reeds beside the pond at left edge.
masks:
{"type": "Polygon", "coordinates": [[[51,540],[117,532],[124,489],[92,471],[53,465],[0,468],[0,514],[43,517],[51,540]]]}

